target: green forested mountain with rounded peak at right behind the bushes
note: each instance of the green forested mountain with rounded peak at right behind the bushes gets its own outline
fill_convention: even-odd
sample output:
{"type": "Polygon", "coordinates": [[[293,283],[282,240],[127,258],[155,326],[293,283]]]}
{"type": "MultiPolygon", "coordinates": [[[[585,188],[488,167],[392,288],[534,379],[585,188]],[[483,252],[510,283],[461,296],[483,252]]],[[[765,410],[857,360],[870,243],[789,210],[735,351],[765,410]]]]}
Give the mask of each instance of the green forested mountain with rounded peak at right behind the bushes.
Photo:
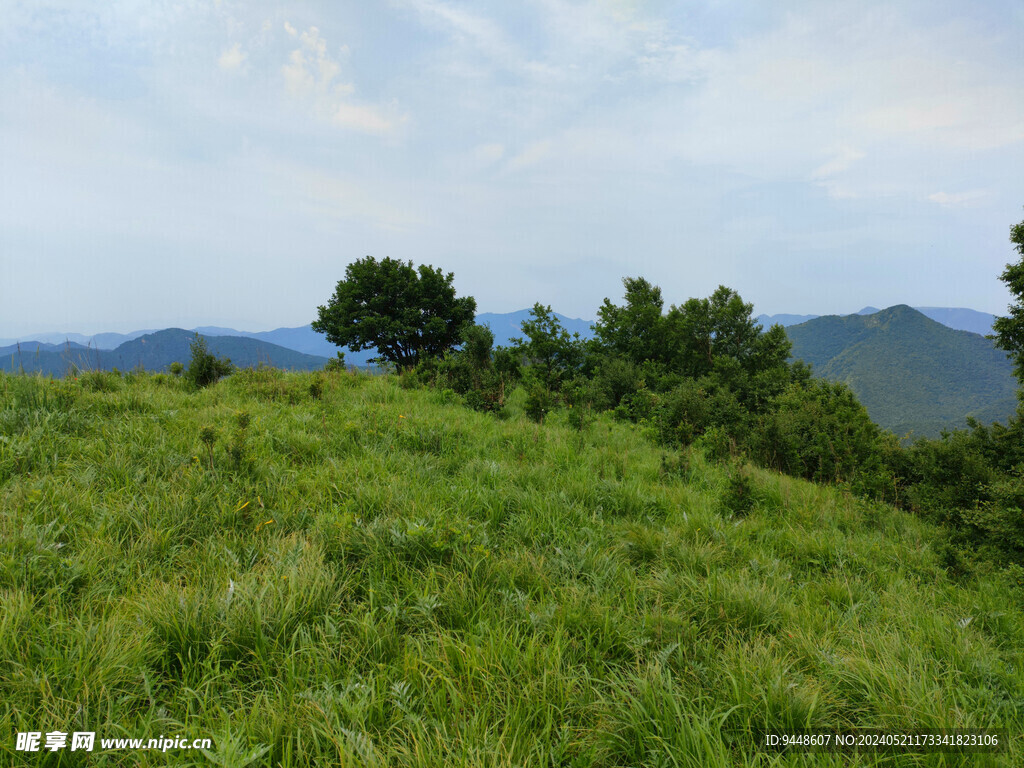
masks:
{"type": "Polygon", "coordinates": [[[1006,352],[900,304],[874,314],[828,315],[786,329],[793,357],[850,385],[879,425],[936,436],[967,424],[1005,422],[1016,408],[1006,352]]]}

